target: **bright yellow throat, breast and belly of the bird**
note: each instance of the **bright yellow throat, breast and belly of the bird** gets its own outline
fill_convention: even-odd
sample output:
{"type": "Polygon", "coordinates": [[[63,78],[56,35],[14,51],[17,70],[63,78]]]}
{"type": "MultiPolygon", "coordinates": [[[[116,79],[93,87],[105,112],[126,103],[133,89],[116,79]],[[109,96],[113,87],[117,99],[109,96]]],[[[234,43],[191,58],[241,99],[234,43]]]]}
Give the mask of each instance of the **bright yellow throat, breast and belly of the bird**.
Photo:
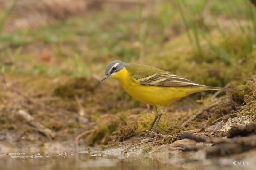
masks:
{"type": "Polygon", "coordinates": [[[116,72],[110,78],[118,80],[125,91],[134,99],[150,105],[166,105],[195,92],[205,90],[191,87],[160,87],[141,85],[135,78],[132,78],[126,68],[116,72]]]}

